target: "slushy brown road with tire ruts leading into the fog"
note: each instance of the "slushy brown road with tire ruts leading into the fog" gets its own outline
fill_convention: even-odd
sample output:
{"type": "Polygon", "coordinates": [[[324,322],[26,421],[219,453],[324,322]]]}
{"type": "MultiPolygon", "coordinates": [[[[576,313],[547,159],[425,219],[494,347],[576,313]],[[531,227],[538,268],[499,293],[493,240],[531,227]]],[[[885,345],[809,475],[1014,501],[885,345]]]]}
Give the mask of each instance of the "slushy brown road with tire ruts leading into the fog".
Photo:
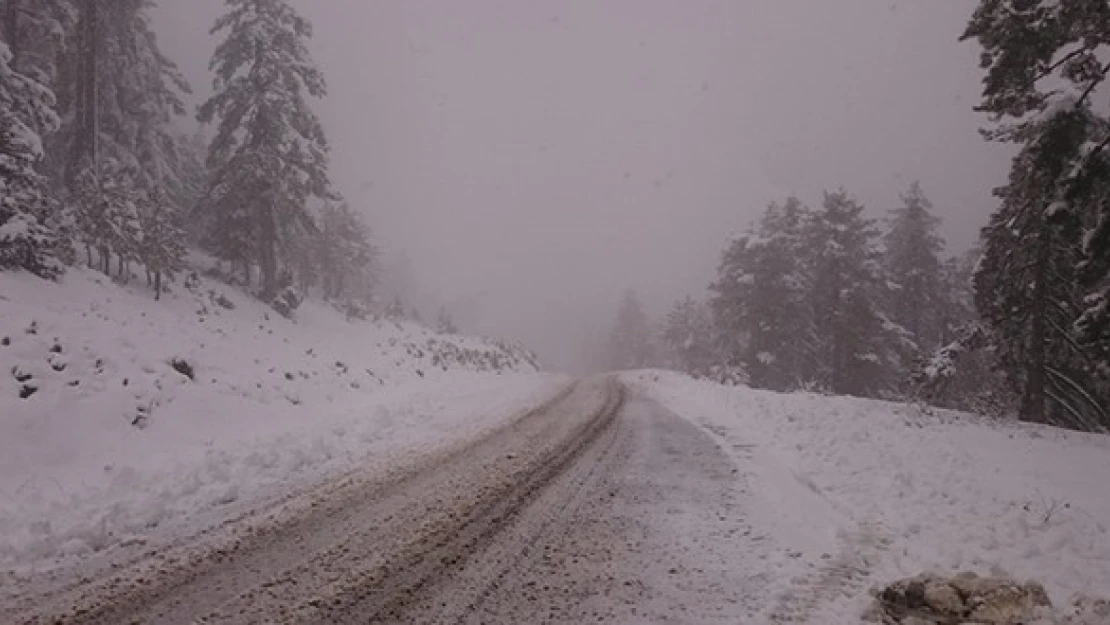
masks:
{"type": "MultiPolygon", "coordinates": [[[[614,379],[480,441],[24,596],[8,623],[736,623],[765,604],[744,484],[614,379]]],[[[11,609],[11,608],[10,608],[11,609]]]]}

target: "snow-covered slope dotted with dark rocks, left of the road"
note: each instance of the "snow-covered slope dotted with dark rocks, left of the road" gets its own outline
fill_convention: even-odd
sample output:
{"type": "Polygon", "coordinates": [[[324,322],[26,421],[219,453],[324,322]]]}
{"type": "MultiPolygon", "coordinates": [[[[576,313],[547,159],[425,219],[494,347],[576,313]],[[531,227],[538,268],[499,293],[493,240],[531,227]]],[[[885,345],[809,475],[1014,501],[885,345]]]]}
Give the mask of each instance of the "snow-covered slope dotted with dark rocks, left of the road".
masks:
{"type": "Polygon", "coordinates": [[[494,427],[563,384],[529,356],[193,278],[0,273],[0,567],[188,534],[494,427]]]}

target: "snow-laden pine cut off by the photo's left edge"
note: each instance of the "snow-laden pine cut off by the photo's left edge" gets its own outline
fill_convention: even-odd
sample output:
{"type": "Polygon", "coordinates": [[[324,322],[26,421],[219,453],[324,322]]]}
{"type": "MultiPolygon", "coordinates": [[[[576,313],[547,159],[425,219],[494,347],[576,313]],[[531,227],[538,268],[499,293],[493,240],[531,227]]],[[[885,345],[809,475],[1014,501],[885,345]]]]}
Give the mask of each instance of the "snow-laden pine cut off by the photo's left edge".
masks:
{"type": "MultiPolygon", "coordinates": [[[[11,7],[8,7],[9,12],[11,7]]],[[[8,16],[4,38],[19,41],[19,20],[8,16]]],[[[17,70],[20,63],[0,41],[0,269],[24,269],[43,278],[61,271],[59,240],[48,226],[51,199],[37,171],[44,152],[42,133],[58,129],[54,95],[17,70]]]]}

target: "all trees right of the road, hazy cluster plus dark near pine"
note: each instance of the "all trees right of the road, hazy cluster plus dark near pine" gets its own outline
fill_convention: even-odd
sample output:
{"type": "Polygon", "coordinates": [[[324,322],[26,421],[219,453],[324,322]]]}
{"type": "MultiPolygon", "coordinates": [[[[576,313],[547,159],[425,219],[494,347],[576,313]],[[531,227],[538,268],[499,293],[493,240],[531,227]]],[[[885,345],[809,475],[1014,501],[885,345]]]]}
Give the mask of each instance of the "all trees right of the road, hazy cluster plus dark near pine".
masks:
{"type": "Polygon", "coordinates": [[[1110,4],[980,0],[962,39],[982,49],[982,134],[1017,148],[976,249],[942,255],[917,185],[885,230],[844,191],[788,199],[728,244],[704,302],[675,304],[654,361],[625,336],[610,364],[1110,430],[1110,4]]]}

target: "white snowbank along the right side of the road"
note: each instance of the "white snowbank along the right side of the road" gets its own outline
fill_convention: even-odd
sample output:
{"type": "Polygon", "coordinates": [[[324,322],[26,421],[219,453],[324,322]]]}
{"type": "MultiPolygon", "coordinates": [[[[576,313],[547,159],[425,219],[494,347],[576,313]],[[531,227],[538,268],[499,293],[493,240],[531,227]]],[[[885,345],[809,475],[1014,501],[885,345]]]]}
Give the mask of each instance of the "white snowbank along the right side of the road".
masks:
{"type": "Polygon", "coordinates": [[[1037,579],[1054,605],[1110,588],[1110,437],[850,397],[627,381],[712,432],[745,476],[770,621],[858,623],[922,571],[1037,579]]]}

